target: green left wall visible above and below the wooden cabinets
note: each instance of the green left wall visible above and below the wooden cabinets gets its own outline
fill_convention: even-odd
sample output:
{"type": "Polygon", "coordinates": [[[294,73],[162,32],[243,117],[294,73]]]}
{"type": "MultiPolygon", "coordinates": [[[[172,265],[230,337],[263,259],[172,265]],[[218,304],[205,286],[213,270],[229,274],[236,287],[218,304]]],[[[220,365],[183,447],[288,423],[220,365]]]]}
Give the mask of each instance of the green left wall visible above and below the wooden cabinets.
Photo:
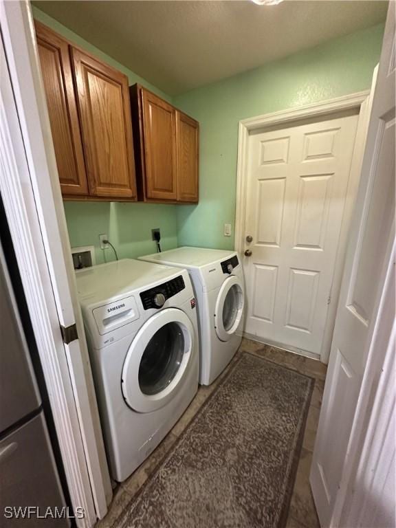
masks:
{"type": "MultiPolygon", "coordinates": [[[[80,36],[65,28],[52,17],[32,6],[33,16],[38,21],[83,47],[102,61],[124,72],[129,84],[140,83],[162,98],[171,102],[171,97],[147,83],[113,58],[107,56],[80,36]]],[[[161,228],[161,247],[170,250],[177,247],[177,206],[148,203],[83,202],[65,201],[67,230],[72,247],[94,245],[96,263],[114,259],[113,250],[100,250],[98,235],[106,233],[115,246],[120,259],[155,252],[151,240],[151,229],[161,228]]]]}

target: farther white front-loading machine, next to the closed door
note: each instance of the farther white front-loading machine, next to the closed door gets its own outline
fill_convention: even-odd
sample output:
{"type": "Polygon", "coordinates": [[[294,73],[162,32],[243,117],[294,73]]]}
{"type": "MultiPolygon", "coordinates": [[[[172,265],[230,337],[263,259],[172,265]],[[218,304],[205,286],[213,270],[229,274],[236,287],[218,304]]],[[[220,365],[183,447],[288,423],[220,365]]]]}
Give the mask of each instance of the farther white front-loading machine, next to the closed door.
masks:
{"type": "Polygon", "coordinates": [[[245,293],[238,254],[234,251],[177,248],[139,258],[188,270],[199,313],[199,383],[210,385],[241,344],[245,293]]]}

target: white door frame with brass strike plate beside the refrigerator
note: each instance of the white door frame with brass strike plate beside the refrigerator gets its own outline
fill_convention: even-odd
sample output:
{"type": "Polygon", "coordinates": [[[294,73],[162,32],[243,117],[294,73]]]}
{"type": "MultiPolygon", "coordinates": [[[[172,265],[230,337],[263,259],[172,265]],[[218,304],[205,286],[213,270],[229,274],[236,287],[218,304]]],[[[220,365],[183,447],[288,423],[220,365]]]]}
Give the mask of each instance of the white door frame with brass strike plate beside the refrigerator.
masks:
{"type": "Polygon", "coordinates": [[[107,512],[111,482],[76,296],[30,3],[1,1],[0,20],[1,195],[72,506],[85,510],[85,518],[76,522],[79,528],[89,528],[107,512]],[[61,327],[75,327],[79,338],[67,342],[61,327]]]}

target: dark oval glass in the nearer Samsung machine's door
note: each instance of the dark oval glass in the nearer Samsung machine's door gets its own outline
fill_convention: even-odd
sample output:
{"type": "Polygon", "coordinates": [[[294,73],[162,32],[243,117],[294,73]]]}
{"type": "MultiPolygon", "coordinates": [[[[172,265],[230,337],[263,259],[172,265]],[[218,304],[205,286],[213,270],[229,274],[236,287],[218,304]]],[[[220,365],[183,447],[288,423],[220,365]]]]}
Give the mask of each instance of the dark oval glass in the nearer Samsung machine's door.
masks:
{"type": "Polygon", "coordinates": [[[143,394],[164,391],[180,369],[184,355],[184,334],[176,322],[168,322],[148,342],[139,366],[143,394]]]}

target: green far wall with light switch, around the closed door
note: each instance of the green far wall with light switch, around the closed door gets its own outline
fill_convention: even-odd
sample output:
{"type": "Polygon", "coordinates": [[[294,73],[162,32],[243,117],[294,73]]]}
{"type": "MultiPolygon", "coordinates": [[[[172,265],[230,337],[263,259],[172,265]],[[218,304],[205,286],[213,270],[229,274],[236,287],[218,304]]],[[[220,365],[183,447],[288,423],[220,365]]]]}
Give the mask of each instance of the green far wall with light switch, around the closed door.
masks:
{"type": "Polygon", "coordinates": [[[179,245],[233,248],[223,225],[234,227],[239,120],[369,89],[383,32],[376,25],[173,98],[201,127],[199,204],[177,208],[179,245]]]}

